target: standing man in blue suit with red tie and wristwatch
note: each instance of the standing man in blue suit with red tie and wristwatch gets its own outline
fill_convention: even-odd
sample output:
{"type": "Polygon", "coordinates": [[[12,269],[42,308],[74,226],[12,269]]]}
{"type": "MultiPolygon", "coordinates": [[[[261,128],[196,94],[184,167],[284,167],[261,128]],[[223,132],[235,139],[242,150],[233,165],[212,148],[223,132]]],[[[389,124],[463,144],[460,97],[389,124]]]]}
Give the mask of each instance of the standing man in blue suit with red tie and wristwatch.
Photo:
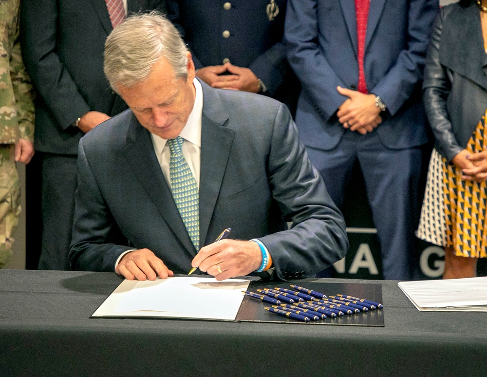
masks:
{"type": "Polygon", "coordinates": [[[338,207],[358,160],[385,279],[412,277],[429,156],[420,81],[437,10],[437,0],[291,0],[287,8],[288,59],[303,87],[301,140],[338,207]]]}

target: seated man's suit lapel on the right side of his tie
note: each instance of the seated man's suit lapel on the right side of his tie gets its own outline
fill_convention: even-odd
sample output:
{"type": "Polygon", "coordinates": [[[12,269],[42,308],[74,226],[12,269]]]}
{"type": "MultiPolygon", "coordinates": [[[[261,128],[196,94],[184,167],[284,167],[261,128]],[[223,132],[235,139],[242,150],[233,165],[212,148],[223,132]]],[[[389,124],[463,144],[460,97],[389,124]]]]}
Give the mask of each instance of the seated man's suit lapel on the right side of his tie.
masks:
{"type": "Polygon", "coordinates": [[[214,241],[206,240],[206,235],[222,186],[235,131],[225,127],[228,114],[219,95],[205,83],[202,83],[202,87],[200,243],[206,245],[214,241]]]}

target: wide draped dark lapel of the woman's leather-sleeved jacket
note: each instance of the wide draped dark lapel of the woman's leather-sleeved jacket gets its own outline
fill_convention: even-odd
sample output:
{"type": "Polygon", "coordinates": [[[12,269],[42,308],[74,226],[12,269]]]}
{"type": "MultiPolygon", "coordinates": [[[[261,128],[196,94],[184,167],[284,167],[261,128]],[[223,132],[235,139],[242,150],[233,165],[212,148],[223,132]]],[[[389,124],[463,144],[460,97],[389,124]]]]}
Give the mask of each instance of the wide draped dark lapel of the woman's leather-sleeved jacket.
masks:
{"type": "Polygon", "coordinates": [[[487,55],[483,41],[479,9],[474,5],[465,9],[458,7],[443,24],[440,63],[487,89],[487,55]]]}

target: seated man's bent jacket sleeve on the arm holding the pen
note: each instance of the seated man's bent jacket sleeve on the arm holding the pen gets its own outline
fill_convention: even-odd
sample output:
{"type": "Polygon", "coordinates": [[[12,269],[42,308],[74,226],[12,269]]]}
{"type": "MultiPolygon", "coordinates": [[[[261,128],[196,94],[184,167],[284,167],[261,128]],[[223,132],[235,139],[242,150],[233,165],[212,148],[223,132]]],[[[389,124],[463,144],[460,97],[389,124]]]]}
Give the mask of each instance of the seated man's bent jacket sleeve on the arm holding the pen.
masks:
{"type": "Polygon", "coordinates": [[[345,221],[282,104],[274,123],[268,171],[272,196],[284,220],[292,223],[288,230],[260,238],[277,277],[285,280],[297,266],[299,277],[310,276],[342,259],[348,249],[345,221]]]}

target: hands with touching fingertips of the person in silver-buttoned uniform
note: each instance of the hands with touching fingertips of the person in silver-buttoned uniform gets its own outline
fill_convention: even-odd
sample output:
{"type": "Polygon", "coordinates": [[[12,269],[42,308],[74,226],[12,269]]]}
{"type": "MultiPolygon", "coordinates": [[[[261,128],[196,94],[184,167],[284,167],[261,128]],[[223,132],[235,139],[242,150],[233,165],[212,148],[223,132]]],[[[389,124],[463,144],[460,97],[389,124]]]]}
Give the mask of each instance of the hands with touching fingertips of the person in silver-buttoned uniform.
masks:
{"type": "Polygon", "coordinates": [[[231,63],[200,68],[196,75],[209,86],[219,89],[234,89],[258,93],[260,84],[257,76],[249,69],[231,63]],[[228,72],[229,75],[223,75],[228,72]]]}

